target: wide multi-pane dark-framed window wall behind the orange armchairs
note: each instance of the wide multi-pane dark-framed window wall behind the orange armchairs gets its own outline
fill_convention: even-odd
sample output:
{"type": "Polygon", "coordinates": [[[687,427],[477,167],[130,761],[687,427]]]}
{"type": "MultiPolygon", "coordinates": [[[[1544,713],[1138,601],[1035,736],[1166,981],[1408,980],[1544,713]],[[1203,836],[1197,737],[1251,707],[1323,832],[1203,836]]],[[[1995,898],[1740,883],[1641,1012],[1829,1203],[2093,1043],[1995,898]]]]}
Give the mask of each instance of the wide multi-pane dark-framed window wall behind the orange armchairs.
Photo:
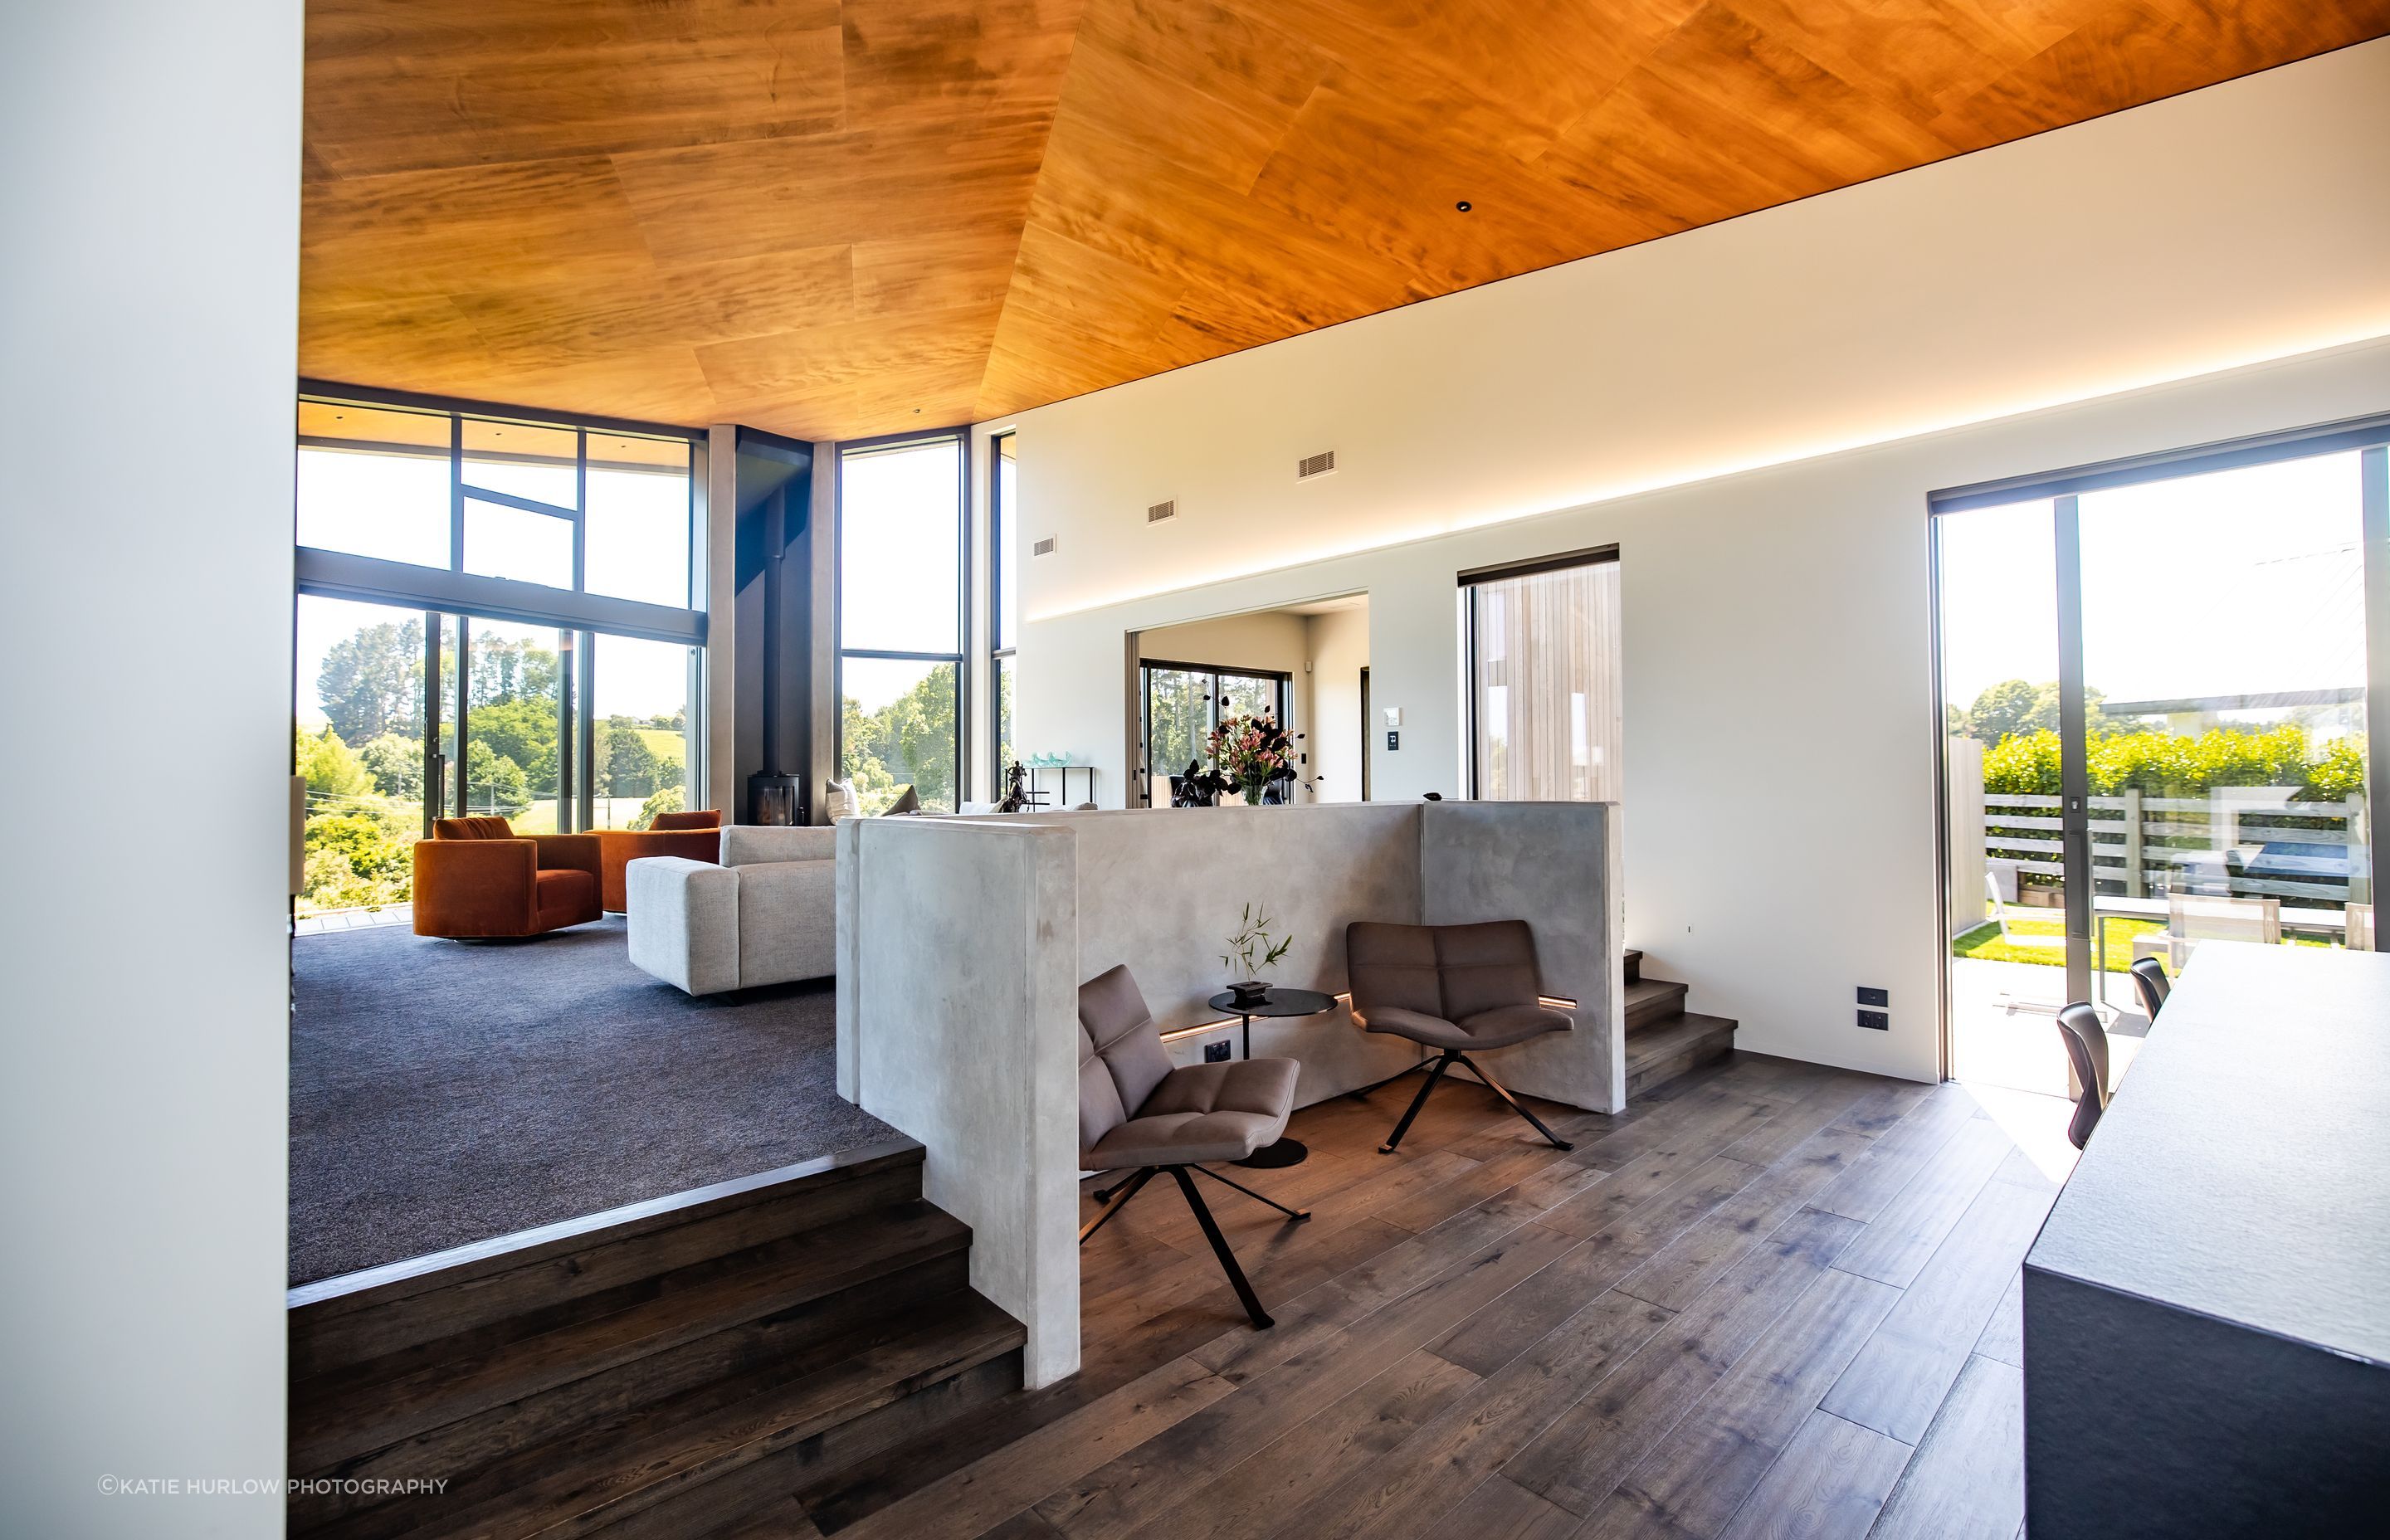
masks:
{"type": "Polygon", "coordinates": [[[645,825],[700,753],[693,440],[299,399],[301,911],[402,904],[447,813],[645,825]]]}

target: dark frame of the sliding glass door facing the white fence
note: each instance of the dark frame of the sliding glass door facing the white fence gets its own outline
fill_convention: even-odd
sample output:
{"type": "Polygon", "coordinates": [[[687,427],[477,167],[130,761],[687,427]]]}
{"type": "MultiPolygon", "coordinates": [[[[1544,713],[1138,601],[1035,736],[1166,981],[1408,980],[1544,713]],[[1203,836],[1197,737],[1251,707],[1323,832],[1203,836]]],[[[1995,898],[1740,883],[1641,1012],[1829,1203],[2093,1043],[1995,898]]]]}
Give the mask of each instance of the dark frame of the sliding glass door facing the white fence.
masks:
{"type": "MultiPolygon", "coordinates": [[[[1950,763],[1948,693],[1943,679],[1941,617],[1941,514],[1981,507],[2051,500],[2051,579],[2058,593],[2058,758],[2060,758],[2060,866],[2065,868],[2067,1000],[2091,997],[2091,787],[2089,787],[2089,710],[2084,705],[2084,607],[2082,607],[2082,493],[2175,481],[2273,464],[2357,452],[2359,464],[2359,543],[2364,564],[2366,617],[2366,854],[2383,849],[2390,818],[2390,411],[2361,418],[2316,423],[2282,433],[2256,433],[2189,450],[2134,454],[2046,471],[1979,481],[1926,495],[1926,612],[1934,662],[1934,921],[1936,921],[1936,1000],[1941,1023],[1941,1078],[1950,1078],[1950,763]],[[2082,873],[2082,880],[2077,880],[2082,873]]],[[[2378,863],[2376,863],[2378,875],[2378,863]]],[[[2378,887],[2376,887],[2378,892],[2378,887]]],[[[2378,913],[2378,911],[2376,911],[2378,913]]],[[[2380,925],[2376,949],[2390,952],[2380,925]]],[[[2098,959],[2106,961],[2106,959],[2098,959]]],[[[2070,1074],[2072,1078],[2072,1074],[2070,1074]]]]}

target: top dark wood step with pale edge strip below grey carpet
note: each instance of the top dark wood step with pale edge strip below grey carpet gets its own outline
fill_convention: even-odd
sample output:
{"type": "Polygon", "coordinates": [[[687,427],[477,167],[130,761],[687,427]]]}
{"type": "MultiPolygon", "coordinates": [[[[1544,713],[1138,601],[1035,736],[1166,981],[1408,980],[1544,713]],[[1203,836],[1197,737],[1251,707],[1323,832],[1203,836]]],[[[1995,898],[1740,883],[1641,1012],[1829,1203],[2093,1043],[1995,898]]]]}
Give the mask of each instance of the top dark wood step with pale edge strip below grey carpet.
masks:
{"type": "Polygon", "coordinates": [[[409,1351],[454,1358],[624,1310],[774,1239],[918,1200],[920,1160],[911,1138],[870,1145],[304,1284],[289,1291],[292,1380],[375,1361],[394,1377],[409,1351]]]}

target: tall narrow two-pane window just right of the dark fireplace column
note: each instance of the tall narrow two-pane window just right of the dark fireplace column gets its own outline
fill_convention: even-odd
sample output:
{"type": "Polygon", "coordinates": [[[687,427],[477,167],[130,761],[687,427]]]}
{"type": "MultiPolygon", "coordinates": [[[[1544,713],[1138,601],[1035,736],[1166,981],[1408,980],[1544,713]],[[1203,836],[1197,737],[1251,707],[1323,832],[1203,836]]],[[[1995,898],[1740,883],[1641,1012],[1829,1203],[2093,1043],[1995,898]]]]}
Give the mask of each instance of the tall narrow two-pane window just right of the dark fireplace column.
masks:
{"type": "Polygon", "coordinates": [[[868,813],[963,796],[961,433],[839,452],[839,775],[868,813]]]}

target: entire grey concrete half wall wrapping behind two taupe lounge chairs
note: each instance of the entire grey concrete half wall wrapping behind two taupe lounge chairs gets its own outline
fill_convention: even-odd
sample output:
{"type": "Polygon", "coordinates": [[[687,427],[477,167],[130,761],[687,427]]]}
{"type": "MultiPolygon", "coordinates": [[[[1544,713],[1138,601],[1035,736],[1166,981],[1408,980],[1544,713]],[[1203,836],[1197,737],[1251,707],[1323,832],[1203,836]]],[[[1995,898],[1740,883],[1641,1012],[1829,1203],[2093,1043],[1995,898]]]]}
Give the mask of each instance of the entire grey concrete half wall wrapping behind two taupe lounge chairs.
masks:
{"type": "MultiPolygon", "coordinates": [[[[1353,921],[1534,925],[1577,1031],[1484,1055],[1513,1090],[1623,1107],[1616,803],[1152,808],[839,825],[839,1093],[927,1148],[973,1227],[970,1282],[1028,1327],[1028,1380],[1078,1370],[1078,985],[1128,964],[1181,1062],[1236,1038],[1205,1002],[1245,904],[1279,985],[1346,990],[1353,921]]],[[[1233,1050],[1231,1050],[1233,1052],[1233,1050]]],[[[1298,1105],[1420,1064],[1346,1009],[1257,1021],[1298,1105]]]]}

